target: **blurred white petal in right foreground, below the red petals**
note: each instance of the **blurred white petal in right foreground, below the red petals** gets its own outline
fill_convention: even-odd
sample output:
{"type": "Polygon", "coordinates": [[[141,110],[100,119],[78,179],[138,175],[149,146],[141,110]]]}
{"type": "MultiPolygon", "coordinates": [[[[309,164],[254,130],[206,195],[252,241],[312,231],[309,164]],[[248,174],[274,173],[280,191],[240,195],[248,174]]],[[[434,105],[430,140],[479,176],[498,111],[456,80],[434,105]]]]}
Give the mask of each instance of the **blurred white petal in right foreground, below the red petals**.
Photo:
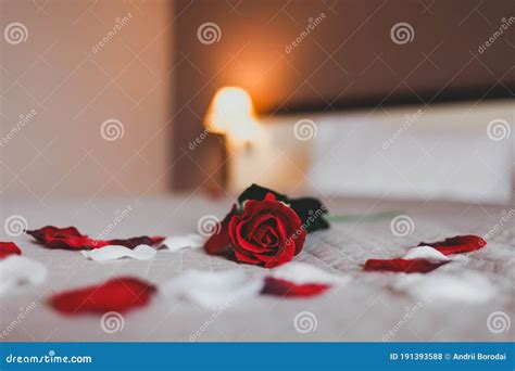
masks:
{"type": "Polygon", "coordinates": [[[401,276],[393,290],[438,305],[447,300],[485,303],[497,292],[485,276],[470,271],[459,276],[441,272],[401,276]]]}

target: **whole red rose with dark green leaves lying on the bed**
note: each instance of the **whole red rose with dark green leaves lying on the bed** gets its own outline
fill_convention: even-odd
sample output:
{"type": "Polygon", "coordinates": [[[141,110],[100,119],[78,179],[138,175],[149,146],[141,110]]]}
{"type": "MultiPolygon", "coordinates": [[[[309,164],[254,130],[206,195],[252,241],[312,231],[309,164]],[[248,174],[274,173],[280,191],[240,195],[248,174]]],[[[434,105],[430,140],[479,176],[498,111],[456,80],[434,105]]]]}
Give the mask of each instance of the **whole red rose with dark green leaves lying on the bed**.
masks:
{"type": "Polygon", "coordinates": [[[252,184],[218,222],[204,250],[265,268],[280,266],[301,252],[306,233],[329,228],[325,213],[327,208],[316,199],[289,199],[252,184]]]}

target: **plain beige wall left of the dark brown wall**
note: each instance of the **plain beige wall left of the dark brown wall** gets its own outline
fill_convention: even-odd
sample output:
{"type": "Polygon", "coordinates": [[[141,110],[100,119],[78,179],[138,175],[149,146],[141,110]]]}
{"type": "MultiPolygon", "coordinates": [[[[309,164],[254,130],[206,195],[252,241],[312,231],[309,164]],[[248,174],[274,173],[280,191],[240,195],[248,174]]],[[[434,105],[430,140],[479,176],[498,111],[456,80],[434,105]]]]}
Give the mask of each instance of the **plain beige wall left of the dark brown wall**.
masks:
{"type": "Polygon", "coordinates": [[[0,195],[166,191],[171,2],[1,0],[0,17],[0,195]],[[14,22],[26,27],[24,42],[3,35],[14,22]],[[123,137],[102,137],[108,119],[123,137]]]}

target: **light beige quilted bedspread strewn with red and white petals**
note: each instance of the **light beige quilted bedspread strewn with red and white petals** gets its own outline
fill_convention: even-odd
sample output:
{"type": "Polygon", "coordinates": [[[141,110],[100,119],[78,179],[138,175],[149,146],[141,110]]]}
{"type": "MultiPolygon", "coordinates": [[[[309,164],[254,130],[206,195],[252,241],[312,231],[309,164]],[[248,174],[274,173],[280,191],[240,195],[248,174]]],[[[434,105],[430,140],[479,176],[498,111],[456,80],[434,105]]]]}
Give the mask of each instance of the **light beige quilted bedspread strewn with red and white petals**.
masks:
{"type": "MultiPolygon", "coordinates": [[[[486,302],[423,302],[392,290],[400,273],[365,272],[368,258],[401,256],[420,241],[436,241],[456,234],[489,233],[499,226],[511,206],[464,203],[387,202],[378,200],[324,200],[331,214],[372,214],[399,210],[414,221],[413,232],[394,236],[390,219],[353,220],[334,223],[329,230],[307,238],[304,251],[296,258],[332,273],[352,278],[348,285],[307,299],[260,296],[229,306],[213,316],[190,303],[155,297],[151,305],[124,316],[121,331],[102,331],[99,316],[66,317],[56,314],[46,300],[54,293],[99,283],[116,276],[136,276],[161,282],[187,269],[224,270],[238,268],[249,274],[264,274],[264,269],[237,265],[209,256],[202,250],[160,251],[150,261],[122,259],[91,261],[77,252],[43,248],[28,235],[0,241],[14,241],[27,257],[45,264],[49,276],[43,284],[26,292],[1,298],[0,328],[9,329],[7,342],[360,342],[360,341],[511,341],[514,329],[489,330],[489,316],[503,312],[514,318],[515,218],[503,222],[488,236],[488,245],[468,255],[466,261],[438,268],[439,273],[462,277],[477,272],[491,282],[494,294],[486,302]],[[503,214],[504,213],[504,214],[503,214]],[[21,310],[33,303],[34,310],[13,327],[21,310]],[[296,316],[313,315],[311,331],[297,331],[296,316]],[[410,318],[406,319],[406,314],[410,318]],[[215,318],[214,318],[215,317],[215,318]],[[192,334],[197,334],[192,336],[192,334]]],[[[230,200],[210,200],[197,193],[190,196],[142,200],[49,200],[46,204],[7,201],[2,215],[23,215],[30,228],[45,225],[74,225],[96,235],[111,223],[116,213],[130,206],[113,238],[139,234],[185,234],[196,232],[197,221],[206,214],[223,216],[230,200]]],[[[3,233],[3,230],[1,231],[3,233]]],[[[435,271],[436,272],[436,271],[435,271]]],[[[434,274],[428,273],[426,277],[434,274]]],[[[510,324],[510,323],[508,323],[510,324]]]]}

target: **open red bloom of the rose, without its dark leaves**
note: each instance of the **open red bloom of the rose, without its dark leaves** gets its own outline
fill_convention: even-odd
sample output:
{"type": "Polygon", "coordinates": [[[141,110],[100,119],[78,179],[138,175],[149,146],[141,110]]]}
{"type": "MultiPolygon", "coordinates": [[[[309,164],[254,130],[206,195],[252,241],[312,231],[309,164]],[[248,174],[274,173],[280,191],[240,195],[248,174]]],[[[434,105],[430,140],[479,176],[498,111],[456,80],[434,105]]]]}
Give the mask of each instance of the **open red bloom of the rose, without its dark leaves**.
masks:
{"type": "Polygon", "coordinates": [[[293,259],[304,245],[305,234],[297,213],[272,193],[263,201],[247,201],[243,212],[233,215],[228,225],[236,259],[265,268],[293,259]]]}

